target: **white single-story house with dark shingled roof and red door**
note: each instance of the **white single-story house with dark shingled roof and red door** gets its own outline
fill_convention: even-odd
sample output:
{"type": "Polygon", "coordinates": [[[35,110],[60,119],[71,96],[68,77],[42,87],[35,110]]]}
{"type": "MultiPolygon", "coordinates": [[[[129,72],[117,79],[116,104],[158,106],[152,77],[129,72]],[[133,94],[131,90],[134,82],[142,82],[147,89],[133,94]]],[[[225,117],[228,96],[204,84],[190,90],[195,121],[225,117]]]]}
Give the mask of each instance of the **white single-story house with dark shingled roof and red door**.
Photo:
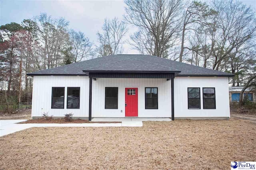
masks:
{"type": "Polygon", "coordinates": [[[150,55],[109,55],[28,74],[32,117],[230,117],[233,74],[150,55]]]}

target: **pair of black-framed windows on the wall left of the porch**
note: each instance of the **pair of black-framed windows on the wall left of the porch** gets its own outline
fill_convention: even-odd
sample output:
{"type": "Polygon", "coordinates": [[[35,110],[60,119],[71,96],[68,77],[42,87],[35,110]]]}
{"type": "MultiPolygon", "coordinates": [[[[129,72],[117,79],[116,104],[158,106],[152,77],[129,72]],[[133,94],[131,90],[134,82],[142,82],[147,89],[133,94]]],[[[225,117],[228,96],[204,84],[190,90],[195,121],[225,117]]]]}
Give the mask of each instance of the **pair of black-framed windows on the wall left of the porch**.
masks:
{"type": "MultiPolygon", "coordinates": [[[[52,109],[64,109],[64,87],[52,87],[52,109]]],[[[80,87],[68,87],[67,109],[79,109],[80,87]]]]}

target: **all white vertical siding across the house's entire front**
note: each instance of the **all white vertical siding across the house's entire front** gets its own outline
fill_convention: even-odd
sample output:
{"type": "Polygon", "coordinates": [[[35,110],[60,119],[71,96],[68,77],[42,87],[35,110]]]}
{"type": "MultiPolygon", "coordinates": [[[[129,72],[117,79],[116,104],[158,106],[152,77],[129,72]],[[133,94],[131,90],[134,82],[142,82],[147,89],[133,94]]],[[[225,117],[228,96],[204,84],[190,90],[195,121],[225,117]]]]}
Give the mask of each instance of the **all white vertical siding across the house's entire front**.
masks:
{"type": "MultiPolygon", "coordinates": [[[[125,88],[138,88],[138,117],[171,117],[171,82],[166,79],[97,78],[92,81],[92,117],[125,117],[125,88]],[[118,109],[105,109],[105,87],[118,87],[118,109]],[[158,88],[158,109],[145,109],[145,87],[158,88]]],[[[54,117],[74,113],[88,117],[89,78],[84,76],[34,76],[32,117],[49,112],[54,117]],[[51,109],[52,87],[65,87],[64,109],[51,109]],[[67,109],[67,87],[80,87],[80,109],[67,109]]],[[[227,77],[175,77],[175,117],[229,117],[227,77]],[[201,109],[188,109],[188,87],[200,87],[201,109]],[[203,109],[203,87],[214,87],[216,109],[203,109]]]]}

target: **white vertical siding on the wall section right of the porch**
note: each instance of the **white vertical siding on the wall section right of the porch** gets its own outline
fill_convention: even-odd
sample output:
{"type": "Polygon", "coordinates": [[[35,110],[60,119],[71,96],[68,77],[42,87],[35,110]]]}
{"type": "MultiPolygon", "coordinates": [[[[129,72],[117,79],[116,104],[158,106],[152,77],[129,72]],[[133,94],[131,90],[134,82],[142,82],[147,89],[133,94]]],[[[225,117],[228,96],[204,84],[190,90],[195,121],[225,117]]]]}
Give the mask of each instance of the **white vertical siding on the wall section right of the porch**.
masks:
{"type": "Polygon", "coordinates": [[[174,117],[230,117],[228,77],[175,77],[174,117]],[[200,88],[201,109],[188,109],[188,88],[200,88]],[[216,109],[203,108],[203,88],[215,88],[216,109]]]}

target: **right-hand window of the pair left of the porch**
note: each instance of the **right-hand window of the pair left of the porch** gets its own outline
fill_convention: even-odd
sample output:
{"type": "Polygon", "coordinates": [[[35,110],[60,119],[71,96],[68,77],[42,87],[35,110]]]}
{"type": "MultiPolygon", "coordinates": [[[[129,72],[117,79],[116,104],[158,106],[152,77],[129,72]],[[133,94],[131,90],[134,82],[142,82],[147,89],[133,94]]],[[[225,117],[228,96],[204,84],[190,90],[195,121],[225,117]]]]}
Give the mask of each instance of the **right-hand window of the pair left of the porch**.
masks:
{"type": "Polygon", "coordinates": [[[79,109],[80,87],[68,87],[67,109],[79,109]]]}

